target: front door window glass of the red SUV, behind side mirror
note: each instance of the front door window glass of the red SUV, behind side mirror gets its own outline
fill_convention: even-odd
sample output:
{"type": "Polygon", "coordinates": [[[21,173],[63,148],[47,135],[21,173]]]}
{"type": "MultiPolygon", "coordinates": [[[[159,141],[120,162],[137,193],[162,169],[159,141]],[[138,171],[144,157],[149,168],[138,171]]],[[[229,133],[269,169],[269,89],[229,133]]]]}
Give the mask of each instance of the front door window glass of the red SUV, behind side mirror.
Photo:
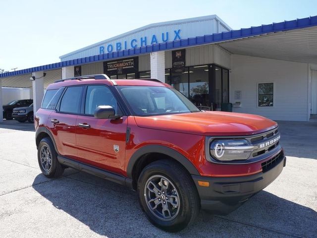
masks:
{"type": "Polygon", "coordinates": [[[111,106],[115,114],[118,112],[117,101],[110,89],[103,85],[91,85],[87,87],[85,114],[94,115],[98,106],[111,106]]]}

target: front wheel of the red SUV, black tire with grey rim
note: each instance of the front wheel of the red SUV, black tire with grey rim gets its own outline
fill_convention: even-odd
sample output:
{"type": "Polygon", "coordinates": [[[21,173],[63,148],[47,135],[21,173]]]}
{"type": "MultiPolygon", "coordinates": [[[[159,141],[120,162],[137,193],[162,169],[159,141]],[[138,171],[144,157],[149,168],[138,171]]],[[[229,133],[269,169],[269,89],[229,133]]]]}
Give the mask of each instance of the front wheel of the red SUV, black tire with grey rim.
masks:
{"type": "Polygon", "coordinates": [[[150,222],[167,232],[193,223],[200,199],[189,173],[177,162],[159,160],[146,166],[138,180],[139,201],[150,222]]]}

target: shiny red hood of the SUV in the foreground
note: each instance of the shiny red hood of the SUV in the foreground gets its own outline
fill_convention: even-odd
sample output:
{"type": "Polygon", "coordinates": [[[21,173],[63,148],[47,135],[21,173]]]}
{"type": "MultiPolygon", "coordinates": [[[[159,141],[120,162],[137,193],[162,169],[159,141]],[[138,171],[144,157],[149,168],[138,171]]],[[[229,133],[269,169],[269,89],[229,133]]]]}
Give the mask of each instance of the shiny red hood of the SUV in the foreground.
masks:
{"type": "Polygon", "coordinates": [[[257,115],[199,112],[151,117],[134,117],[139,127],[199,135],[252,135],[277,126],[257,115]]]}

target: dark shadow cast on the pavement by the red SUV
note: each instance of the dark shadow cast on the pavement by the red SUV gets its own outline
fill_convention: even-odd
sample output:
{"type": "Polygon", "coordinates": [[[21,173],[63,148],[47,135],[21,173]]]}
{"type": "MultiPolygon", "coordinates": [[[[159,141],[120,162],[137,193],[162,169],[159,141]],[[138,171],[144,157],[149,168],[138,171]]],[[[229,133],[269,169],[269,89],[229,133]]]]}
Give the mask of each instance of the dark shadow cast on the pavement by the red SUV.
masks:
{"type": "Polygon", "coordinates": [[[109,238],[314,237],[317,232],[316,211],[262,191],[228,216],[206,222],[200,214],[195,224],[170,234],[146,219],[136,193],[123,186],[82,172],[38,184],[41,177],[33,182],[38,193],[93,232],[109,238]]]}

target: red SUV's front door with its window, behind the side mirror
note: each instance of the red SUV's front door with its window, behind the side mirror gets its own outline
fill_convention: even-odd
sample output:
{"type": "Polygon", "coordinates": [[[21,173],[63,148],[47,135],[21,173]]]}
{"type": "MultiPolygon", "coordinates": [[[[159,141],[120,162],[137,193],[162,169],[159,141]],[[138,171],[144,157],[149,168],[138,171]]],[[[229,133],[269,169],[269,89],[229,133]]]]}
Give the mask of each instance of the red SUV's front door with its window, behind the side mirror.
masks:
{"type": "MultiPolygon", "coordinates": [[[[112,106],[121,114],[117,101],[106,85],[89,85],[84,114],[77,118],[76,144],[78,158],[84,163],[124,175],[125,140],[128,119],[96,119],[95,109],[112,106]]],[[[122,115],[122,114],[121,114],[122,115]]]]}

